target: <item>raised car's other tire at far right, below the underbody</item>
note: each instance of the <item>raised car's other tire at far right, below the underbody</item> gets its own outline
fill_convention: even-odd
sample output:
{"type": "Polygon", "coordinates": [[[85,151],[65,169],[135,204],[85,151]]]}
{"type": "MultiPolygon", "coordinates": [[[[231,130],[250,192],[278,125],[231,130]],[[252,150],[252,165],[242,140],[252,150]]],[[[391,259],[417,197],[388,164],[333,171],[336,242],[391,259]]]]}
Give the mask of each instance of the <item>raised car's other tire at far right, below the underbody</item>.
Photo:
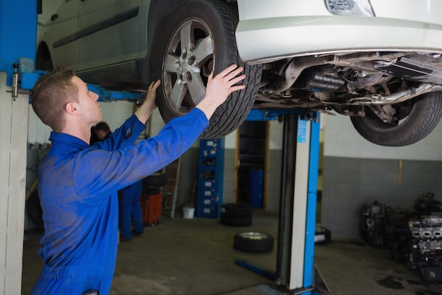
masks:
{"type": "Polygon", "coordinates": [[[393,106],[400,124],[386,124],[366,107],[365,116],[350,119],[357,132],[377,145],[400,147],[417,143],[433,131],[442,115],[442,92],[429,92],[393,106]]]}

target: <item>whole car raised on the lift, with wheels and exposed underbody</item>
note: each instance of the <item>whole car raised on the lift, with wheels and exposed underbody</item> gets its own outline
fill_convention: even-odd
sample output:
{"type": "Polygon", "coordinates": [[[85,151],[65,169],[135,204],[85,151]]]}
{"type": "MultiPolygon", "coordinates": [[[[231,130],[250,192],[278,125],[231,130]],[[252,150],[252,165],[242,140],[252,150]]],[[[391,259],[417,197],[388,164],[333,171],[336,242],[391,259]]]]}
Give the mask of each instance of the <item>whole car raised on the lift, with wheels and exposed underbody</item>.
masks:
{"type": "Polygon", "coordinates": [[[165,121],[189,112],[210,71],[244,66],[246,89],[201,138],[252,108],[335,110],[378,145],[422,140],[442,114],[440,0],[68,0],[38,34],[36,66],[63,64],[110,90],[160,78],[165,121]]]}

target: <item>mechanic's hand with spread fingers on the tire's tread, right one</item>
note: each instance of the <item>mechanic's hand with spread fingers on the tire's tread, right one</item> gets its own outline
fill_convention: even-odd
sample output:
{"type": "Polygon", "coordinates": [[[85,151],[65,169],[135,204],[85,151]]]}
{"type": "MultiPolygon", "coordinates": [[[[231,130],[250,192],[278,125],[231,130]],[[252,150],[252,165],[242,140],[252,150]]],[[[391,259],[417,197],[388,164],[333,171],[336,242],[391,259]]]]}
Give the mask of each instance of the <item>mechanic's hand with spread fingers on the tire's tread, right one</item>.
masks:
{"type": "Polygon", "coordinates": [[[215,77],[213,72],[210,73],[205,97],[196,106],[204,112],[208,119],[213,115],[215,109],[227,100],[230,93],[246,88],[246,85],[235,85],[246,78],[244,74],[238,76],[243,70],[244,68],[233,64],[215,77]]]}

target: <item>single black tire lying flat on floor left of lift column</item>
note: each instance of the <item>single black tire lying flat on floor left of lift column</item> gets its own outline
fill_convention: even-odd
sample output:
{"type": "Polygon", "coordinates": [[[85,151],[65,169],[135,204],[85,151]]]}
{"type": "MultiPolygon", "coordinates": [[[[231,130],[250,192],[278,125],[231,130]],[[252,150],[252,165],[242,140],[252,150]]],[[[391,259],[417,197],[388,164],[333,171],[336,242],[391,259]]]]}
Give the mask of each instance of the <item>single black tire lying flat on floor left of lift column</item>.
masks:
{"type": "Polygon", "coordinates": [[[273,250],[274,242],[270,234],[246,231],[234,235],[233,248],[249,253],[264,253],[273,250]]]}

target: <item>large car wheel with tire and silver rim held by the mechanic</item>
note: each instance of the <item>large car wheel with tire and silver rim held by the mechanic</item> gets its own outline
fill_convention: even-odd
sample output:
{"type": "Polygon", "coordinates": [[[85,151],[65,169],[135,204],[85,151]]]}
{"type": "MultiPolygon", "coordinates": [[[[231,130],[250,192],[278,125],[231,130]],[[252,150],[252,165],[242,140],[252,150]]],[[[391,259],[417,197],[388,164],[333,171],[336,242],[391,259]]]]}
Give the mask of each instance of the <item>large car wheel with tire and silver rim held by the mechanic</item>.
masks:
{"type": "Polygon", "coordinates": [[[246,88],[233,92],[216,109],[200,138],[227,136],[246,119],[258,94],[261,66],[245,64],[239,58],[237,23],[237,11],[229,4],[190,0],[162,28],[162,37],[150,55],[150,73],[161,78],[157,105],[166,123],[187,114],[203,99],[213,69],[216,75],[232,64],[244,68],[246,78],[241,83],[246,88]],[[181,36],[189,40],[181,40],[181,36]],[[190,44],[189,48],[181,46],[181,41],[190,44]]]}

